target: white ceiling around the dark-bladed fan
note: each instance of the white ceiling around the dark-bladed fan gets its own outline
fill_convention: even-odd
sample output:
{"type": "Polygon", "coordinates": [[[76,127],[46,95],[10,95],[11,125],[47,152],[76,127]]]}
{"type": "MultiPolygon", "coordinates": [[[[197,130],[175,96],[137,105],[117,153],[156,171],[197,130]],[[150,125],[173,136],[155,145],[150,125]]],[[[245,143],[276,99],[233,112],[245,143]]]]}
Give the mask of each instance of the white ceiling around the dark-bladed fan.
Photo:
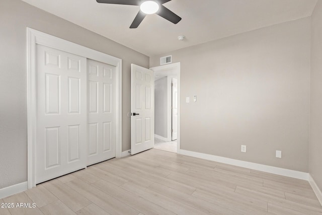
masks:
{"type": "Polygon", "coordinates": [[[182,18],[173,24],[155,14],[129,29],[138,6],[96,0],[23,0],[147,56],[311,16],[317,0],[172,0],[164,6],[182,18]],[[186,39],[178,40],[185,35],[186,39]]]}

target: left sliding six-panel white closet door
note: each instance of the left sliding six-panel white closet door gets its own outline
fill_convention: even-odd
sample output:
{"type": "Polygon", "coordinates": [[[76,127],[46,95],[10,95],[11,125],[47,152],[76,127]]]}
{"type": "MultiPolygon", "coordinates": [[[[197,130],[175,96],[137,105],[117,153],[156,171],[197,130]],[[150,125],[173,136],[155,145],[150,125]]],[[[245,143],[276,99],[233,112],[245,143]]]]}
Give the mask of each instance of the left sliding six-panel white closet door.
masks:
{"type": "Polygon", "coordinates": [[[86,58],[37,45],[36,183],[86,167],[86,58]]]}

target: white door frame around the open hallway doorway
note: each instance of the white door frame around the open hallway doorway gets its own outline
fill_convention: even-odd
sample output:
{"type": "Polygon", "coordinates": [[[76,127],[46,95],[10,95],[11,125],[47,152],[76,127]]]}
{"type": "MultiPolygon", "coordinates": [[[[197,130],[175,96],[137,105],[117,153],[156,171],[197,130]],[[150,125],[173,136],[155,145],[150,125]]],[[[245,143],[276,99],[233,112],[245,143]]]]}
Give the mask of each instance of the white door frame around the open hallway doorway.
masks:
{"type": "MultiPolygon", "coordinates": [[[[160,66],[154,66],[154,67],[151,67],[150,69],[152,69],[154,72],[157,72],[157,71],[162,72],[162,71],[165,71],[165,70],[168,70],[168,69],[176,69],[176,71],[177,71],[177,80],[178,80],[178,139],[177,139],[177,154],[180,154],[180,139],[181,139],[180,138],[180,117],[181,117],[181,114],[180,114],[180,100],[181,100],[180,99],[180,62],[171,63],[171,64],[165,64],[165,65],[160,65],[160,66]]],[[[170,85],[170,87],[171,87],[171,85],[170,85]]],[[[171,98],[172,98],[172,96],[171,96],[171,98]]],[[[169,96],[168,96],[168,101],[169,101],[169,99],[172,100],[171,98],[169,98],[169,96]]],[[[170,109],[171,109],[171,107],[170,107],[170,109]]],[[[171,117],[170,117],[170,120],[169,120],[169,117],[168,117],[167,121],[168,121],[168,126],[170,125],[170,127],[171,127],[171,124],[172,124],[171,117]]]]}

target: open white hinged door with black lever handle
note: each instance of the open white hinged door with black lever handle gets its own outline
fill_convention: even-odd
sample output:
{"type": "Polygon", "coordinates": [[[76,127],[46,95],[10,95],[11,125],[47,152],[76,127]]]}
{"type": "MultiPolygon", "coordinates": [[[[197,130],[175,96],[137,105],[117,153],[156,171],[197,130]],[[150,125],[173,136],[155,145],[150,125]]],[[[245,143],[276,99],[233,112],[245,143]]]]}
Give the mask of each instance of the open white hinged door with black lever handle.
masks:
{"type": "Polygon", "coordinates": [[[153,71],[131,64],[131,155],[153,147],[153,71]]]}

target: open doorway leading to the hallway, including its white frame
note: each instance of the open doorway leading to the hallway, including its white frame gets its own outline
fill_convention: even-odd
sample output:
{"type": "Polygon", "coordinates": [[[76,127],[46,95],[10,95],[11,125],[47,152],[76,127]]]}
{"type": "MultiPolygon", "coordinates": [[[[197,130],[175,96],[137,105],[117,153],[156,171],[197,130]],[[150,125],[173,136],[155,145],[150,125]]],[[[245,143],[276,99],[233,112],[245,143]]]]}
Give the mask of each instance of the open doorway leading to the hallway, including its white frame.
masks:
{"type": "Polygon", "coordinates": [[[180,62],[154,71],[154,149],[180,150],[180,62]]]}

